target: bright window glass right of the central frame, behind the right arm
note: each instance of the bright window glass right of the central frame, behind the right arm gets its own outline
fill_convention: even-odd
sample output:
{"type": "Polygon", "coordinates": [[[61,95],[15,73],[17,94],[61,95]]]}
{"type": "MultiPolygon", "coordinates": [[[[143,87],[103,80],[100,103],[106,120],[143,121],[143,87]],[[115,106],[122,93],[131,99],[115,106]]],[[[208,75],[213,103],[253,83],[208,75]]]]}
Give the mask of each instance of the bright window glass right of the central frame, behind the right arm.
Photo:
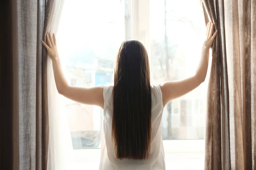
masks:
{"type": "MultiPolygon", "coordinates": [[[[152,83],[195,74],[206,34],[198,0],[150,0],[152,83]],[[184,5],[186,4],[186,5],[184,5]]],[[[169,102],[163,112],[163,139],[204,139],[207,81],[169,102]]]]}

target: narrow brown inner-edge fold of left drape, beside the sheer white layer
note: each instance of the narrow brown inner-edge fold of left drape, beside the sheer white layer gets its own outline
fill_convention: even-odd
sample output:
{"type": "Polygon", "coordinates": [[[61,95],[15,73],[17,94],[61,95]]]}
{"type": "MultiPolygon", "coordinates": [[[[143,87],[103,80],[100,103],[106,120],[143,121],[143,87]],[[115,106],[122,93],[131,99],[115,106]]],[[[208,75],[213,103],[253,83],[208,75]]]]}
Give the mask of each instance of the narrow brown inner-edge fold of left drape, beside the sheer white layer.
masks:
{"type": "Polygon", "coordinates": [[[44,86],[44,82],[46,79],[44,78],[43,68],[46,63],[44,63],[43,54],[42,54],[42,44],[41,40],[43,38],[44,31],[44,20],[45,20],[45,1],[38,0],[37,4],[37,43],[36,43],[36,169],[46,169],[47,165],[47,144],[48,144],[48,121],[46,119],[48,115],[47,103],[44,102],[46,98],[45,92],[47,91],[47,87],[44,86]],[[43,165],[43,167],[42,167],[43,165]]]}

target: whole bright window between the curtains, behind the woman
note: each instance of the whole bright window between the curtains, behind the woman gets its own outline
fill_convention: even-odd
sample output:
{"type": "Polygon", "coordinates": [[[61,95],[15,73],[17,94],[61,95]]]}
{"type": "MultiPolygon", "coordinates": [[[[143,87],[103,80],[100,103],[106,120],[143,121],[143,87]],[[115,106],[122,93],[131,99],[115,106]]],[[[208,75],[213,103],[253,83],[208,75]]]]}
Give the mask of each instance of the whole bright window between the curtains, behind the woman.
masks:
{"type": "MultiPolygon", "coordinates": [[[[148,50],[153,84],[192,76],[205,35],[201,11],[198,0],[65,0],[57,35],[65,75],[71,85],[111,85],[121,42],[137,39],[148,50]]],[[[206,91],[203,83],[164,108],[167,170],[204,168],[206,91]]],[[[103,111],[66,102],[75,169],[98,169],[103,111]]]]}

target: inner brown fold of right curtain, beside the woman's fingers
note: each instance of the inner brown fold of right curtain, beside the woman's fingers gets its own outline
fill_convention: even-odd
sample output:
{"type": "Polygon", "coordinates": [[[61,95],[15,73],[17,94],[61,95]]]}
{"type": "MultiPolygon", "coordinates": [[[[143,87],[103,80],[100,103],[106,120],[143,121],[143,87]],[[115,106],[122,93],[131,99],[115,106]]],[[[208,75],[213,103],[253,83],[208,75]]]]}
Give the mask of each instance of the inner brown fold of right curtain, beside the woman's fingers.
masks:
{"type": "Polygon", "coordinates": [[[207,124],[205,136],[205,170],[221,169],[221,72],[220,39],[223,32],[217,22],[216,4],[212,0],[203,0],[206,24],[212,21],[218,34],[212,46],[212,66],[207,91],[207,124]]]}

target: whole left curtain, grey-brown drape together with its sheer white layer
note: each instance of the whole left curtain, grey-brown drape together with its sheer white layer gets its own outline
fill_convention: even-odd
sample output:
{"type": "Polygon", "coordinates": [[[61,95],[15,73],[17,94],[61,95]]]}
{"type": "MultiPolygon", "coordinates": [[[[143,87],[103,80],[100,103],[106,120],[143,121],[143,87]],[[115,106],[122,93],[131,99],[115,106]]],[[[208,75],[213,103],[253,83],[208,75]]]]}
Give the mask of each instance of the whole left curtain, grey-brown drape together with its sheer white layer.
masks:
{"type": "Polygon", "coordinates": [[[0,169],[65,170],[72,150],[52,63],[42,48],[63,0],[3,0],[0,14],[0,169]]]}

